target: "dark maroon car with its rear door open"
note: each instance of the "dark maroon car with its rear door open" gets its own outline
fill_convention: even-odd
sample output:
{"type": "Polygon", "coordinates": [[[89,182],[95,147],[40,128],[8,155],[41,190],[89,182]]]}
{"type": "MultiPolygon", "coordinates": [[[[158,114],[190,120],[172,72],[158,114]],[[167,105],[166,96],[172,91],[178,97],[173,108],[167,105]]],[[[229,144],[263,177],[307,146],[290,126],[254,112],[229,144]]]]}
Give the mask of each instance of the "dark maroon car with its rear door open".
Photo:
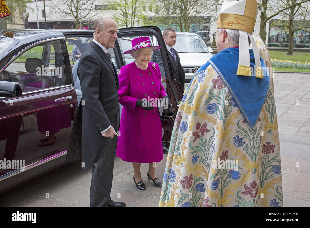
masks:
{"type": "MultiPolygon", "coordinates": [[[[69,137],[81,97],[72,47],[81,55],[92,30],[0,30],[0,192],[65,164],[69,137]],[[68,51],[69,50],[69,51],[68,51]],[[77,87],[77,89],[75,88],[77,87]],[[49,142],[49,143],[46,143],[49,142]]],[[[150,36],[165,47],[158,27],[119,29],[123,40],[150,36]]],[[[109,50],[117,69],[132,61],[117,39],[109,50]]],[[[166,48],[160,49],[162,83],[177,112],[183,89],[171,79],[166,48]]],[[[152,61],[152,60],[151,60],[152,61]]],[[[169,143],[171,132],[163,131],[169,143]]]]}

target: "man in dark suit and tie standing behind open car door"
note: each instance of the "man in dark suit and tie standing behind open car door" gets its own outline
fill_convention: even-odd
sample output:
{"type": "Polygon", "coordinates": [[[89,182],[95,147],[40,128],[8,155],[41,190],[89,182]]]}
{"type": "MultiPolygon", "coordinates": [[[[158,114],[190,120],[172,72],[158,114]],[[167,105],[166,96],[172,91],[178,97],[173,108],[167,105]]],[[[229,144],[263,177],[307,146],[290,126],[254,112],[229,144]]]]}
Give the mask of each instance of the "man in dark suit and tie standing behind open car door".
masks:
{"type": "MultiPolygon", "coordinates": [[[[184,88],[185,83],[185,72],[184,69],[180,63],[180,57],[178,55],[178,52],[172,47],[175,45],[176,42],[176,31],[173,28],[166,28],[162,33],[166,48],[169,52],[169,60],[172,65],[172,73],[174,79],[176,79],[184,88]]],[[[162,77],[165,76],[164,66],[162,63],[162,56],[160,54],[160,51],[154,51],[153,52],[153,62],[157,63],[159,65],[159,68],[161,70],[162,77]]]]}

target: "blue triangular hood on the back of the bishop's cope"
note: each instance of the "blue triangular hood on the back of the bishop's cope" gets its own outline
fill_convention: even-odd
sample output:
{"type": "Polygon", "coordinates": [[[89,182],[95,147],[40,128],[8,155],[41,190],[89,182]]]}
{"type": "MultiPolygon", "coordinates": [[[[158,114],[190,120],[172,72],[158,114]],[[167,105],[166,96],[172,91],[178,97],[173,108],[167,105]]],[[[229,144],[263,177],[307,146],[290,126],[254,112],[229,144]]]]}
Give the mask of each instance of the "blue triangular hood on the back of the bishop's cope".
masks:
{"type": "MultiPolygon", "coordinates": [[[[249,49],[249,51],[250,67],[252,67],[255,72],[254,53],[252,49],[249,49]]],[[[253,129],[267,95],[270,83],[269,73],[265,70],[267,69],[266,65],[260,57],[264,75],[263,78],[255,78],[255,75],[237,75],[238,62],[239,48],[233,47],[220,51],[208,61],[228,87],[242,114],[246,118],[246,121],[253,129]]]]}

